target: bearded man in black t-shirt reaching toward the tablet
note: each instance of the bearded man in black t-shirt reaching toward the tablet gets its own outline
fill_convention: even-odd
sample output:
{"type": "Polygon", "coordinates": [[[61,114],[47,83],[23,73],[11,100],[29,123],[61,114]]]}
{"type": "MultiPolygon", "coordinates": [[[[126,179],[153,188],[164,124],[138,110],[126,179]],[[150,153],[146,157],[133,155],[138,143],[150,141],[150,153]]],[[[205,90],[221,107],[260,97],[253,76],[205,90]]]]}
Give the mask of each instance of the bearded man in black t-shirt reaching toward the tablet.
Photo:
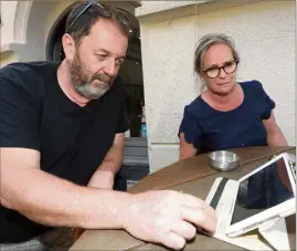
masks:
{"type": "Polygon", "coordinates": [[[66,22],[62,63],[0,70],[1,250],[50,249],[61,227],[125,229],[173,249],[194,226],[215,230],[214,210],[190,195],[113,190],[127,130],[116,77],[126,24],[116,10],[82,2],[66,22]]]}

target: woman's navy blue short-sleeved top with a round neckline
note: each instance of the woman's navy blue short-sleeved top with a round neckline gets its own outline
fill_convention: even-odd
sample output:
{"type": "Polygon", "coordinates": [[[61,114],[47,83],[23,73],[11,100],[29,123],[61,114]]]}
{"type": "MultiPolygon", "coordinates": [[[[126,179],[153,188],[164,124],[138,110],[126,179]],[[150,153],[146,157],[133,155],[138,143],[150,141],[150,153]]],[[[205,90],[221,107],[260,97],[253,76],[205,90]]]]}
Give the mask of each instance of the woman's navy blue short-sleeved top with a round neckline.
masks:
{"type": "Polygon", "coordinates": [[[274,101],[258,81],[238,83],[244,93],[243,103],[235,109],[220,112],[201,96],[184,107],[179,133],[184,133],[201,153],[246,147],[267,146],[263,119],[268,119],[274,101]]]}

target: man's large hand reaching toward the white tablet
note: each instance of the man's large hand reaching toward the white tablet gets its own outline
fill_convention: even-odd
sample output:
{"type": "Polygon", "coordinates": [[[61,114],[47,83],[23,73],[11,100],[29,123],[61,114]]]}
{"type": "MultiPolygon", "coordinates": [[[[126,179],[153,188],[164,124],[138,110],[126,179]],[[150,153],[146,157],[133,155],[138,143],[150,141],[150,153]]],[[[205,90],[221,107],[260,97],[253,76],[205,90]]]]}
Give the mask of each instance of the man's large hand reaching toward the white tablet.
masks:
{"type": "Polygon", "coordinates": [[[202,228],[212,234],[215,211],[203,200],[177,191],[148,191],[134,195],[124,216],[124,228],[134,237],[182,249],[202,228]]]}

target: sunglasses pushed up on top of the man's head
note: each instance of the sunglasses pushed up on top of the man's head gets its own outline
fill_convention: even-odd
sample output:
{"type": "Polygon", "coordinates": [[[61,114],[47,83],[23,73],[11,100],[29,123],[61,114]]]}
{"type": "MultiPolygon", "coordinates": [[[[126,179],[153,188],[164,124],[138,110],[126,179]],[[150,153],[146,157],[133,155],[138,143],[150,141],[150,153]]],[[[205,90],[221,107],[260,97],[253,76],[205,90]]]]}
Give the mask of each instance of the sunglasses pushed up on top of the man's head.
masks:
{"type": "Polygon", "coordinates": [[[113,11],[114,11],[121,24],[124,24],[124,25],[128,25],[129,24],[128,18],[124,13],[121,13],[119,11],[116,11],[115,8],[112,8],[109,6],[102,6],[98,2],[88,1],[87,4],[84,7],[84,9],[76,15],[76,18],[66,28],[66,33],[74,25],[74,23],[83,15],[83,13],[85,13],[93,4],[96,4],[97,7],[99,7],[99,14],[102,17],[104,17],[104,18],[110,18],[112,14],[113,14],[113,11]]]}

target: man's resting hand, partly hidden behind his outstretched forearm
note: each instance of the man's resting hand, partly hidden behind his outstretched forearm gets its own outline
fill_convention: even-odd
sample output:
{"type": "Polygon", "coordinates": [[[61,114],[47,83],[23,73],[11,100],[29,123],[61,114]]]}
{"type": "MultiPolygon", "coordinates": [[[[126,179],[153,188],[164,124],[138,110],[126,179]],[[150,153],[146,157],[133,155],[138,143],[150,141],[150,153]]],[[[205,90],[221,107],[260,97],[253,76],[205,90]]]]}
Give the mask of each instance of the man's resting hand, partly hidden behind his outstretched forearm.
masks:
{"type": "Polygon", "coordinates": [[[88,182],[88,187],[113,190],[115,174],[109,170],[98,169],[88,182]]]}

